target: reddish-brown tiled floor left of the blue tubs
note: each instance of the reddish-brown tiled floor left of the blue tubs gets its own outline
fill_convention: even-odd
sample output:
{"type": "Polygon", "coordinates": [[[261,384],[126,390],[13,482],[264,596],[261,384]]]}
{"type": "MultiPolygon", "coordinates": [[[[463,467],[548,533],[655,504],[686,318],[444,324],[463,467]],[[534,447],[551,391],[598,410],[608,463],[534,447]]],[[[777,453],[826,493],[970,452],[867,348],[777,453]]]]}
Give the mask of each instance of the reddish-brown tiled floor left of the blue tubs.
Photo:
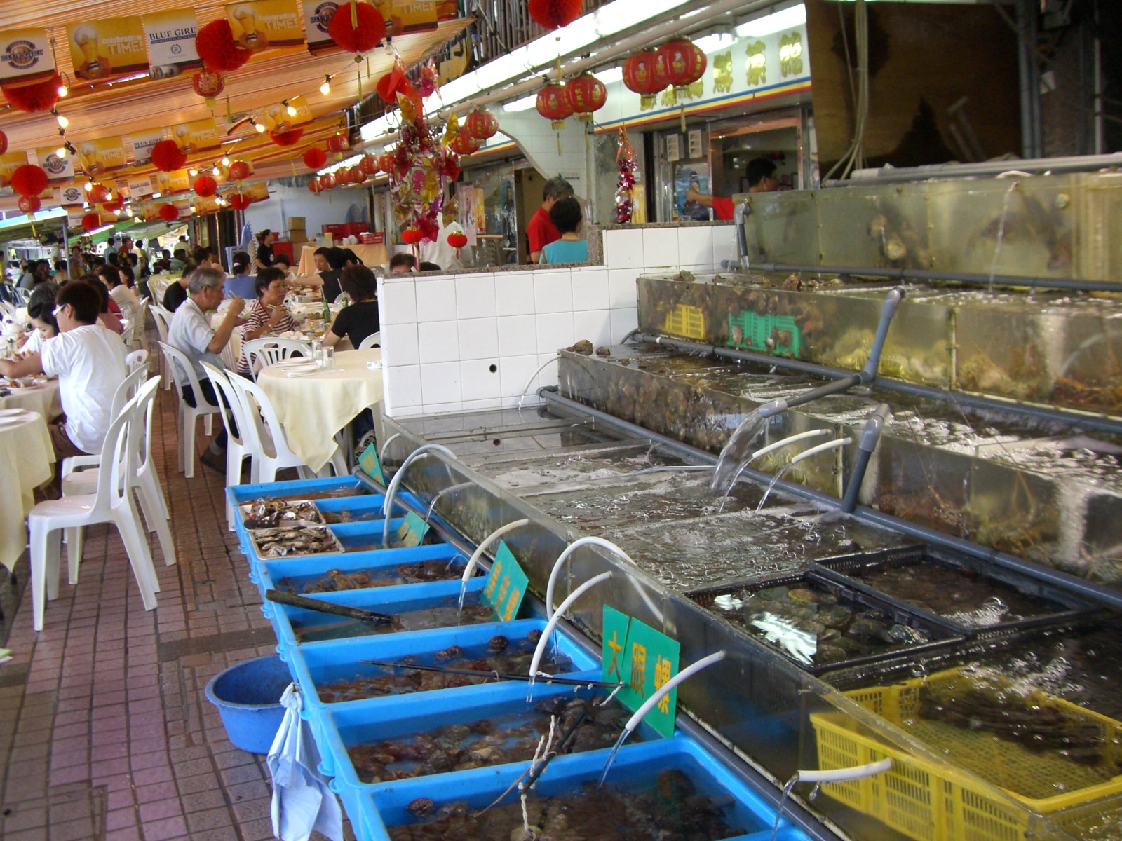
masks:
{"type": "Polygon", "coordinates": [[[7,644],[15,659],[0,666],[3,841],[273,838],[265,757],[230,745],[203,687],[273,654],[275,638],[226,529],[222,477],[176,471],[175,397],[158,394],[154,456],[178,564],[165,566],[150,542],[160,593],[145,612],[117,530],[99,526],[76,586],[62,564],[39,634],[24,592],[7,644]]]}

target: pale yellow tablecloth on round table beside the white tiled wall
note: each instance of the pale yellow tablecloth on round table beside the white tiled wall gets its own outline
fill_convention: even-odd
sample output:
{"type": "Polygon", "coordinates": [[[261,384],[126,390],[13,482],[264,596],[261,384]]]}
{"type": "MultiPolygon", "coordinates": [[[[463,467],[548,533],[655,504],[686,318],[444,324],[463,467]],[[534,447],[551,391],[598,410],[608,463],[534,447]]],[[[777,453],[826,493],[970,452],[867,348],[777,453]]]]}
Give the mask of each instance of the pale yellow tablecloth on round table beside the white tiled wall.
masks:
{"type": "Polygon", "coordinates": [[[381,369],[366,363],[381,359],[381,349],[335,353],[331,372],[289,378],[283,368],[263,368],[257,385],[273,401],[288,446],[312,470],[321,470],[338,446],[333,440],[362,409],[383,398],[381,369]]]}

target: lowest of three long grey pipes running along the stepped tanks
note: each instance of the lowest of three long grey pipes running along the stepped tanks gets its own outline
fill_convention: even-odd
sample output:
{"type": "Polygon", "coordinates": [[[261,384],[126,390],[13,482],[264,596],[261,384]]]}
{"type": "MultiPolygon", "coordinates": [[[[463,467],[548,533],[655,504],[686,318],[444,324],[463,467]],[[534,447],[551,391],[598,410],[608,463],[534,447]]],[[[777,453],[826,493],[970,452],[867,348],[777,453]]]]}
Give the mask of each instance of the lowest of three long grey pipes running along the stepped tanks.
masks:
{"type": "MultiPolygon", "coordinates": [[[[696,446],[683,444],[681,441],[671,438],[666,435],[651,432],[638,424],[633,424],[629,420],[623,420],[614,415],[609,415],[606,412],[578,403],[577,400],[570,400],[568,397],[562,397],[550,389],[543,388],[537,394],[546,403],[552,403],[571,412],[595,417],[605,424],[615,426],[624,432],[629,432],[633,435],[637,435],[650,441],[657,441],[672,450],[686,453],[691,458],[702,459],[710,463],[716,463],[717,461],[717,456],[706,450],[699,450],[696,446]]],[[[773,479],[772,474],[761,473],[752,468],[745,468],[743,473],[749,479],[755,479],[757,482],[762,483],[767,483],[773,479]]],[[[812,488],[804,488],[801,484],[793,484],[784,480],[775,482],[775,487],[784,493],[790,493],[791,496],[800,497],[835,510],[840,510],[840,500],[828,493],[822,493],[821,491],[813,490],[812,488]]],[[[944,534],[942,532],[936,532],[934,528],[920,526],[909,520],[903,520],[899,517],[893,517],[892,515],[883,514],[872,508],[866,508],[865,506],[857,506],[854,509],[853,517],[859,521],[871,523],[875,526],[880,526],[881,528],[900,532],[909,537],[914,537],[919,540],[923,540],[925,543],[930,543],[942,548],[960,552],[964,555],[969,555],[971,557],[976,557],[981,561],[990,561],[997,566],[1020,572],[1029,577],[1036,579],[1037,581],[1054,584],[1055,586],[1067,590],[1068,592],[1083,595],[1112,608],[1122,608],[1122,591],[1101,586],[1094,584],[1093,582],[1084,581],[1083,579],[1077,579],[1066,572],[1060,572],[1059,570],[1052,570],[1040,564],[1024,561],[1004,552],[992,549],[988,546],[982,546],[980,544],[965,540],[960,537],[953,537],[944,534]]]]}

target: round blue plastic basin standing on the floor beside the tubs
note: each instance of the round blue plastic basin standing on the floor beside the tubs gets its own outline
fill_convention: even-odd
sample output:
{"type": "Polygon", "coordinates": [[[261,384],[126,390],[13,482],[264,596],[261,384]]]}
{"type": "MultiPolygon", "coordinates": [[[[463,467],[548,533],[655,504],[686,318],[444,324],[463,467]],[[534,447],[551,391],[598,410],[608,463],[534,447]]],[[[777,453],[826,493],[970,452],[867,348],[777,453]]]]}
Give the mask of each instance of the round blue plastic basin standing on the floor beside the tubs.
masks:
{"type": "Polygon", "coordinates": [[[206,684],[206,700],[218,708],[230,742],[250,754],[268,754],[284,719],[280,695],[292,683],[276,656],[230,666],[206,684]]]}

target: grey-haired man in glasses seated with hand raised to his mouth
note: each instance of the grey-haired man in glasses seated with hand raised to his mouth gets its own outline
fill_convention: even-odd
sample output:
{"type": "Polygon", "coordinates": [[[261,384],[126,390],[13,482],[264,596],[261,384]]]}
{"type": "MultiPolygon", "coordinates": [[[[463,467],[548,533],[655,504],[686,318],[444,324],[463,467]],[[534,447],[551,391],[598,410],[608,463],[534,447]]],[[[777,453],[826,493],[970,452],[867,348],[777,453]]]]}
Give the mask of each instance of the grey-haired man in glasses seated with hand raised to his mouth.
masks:
{"type": "MultiPolygon", "coordinates": [[[[242,298],[231,298],[230,308],[226,311],[222,322],[217,330],[211,329],[206,323],[205,313],[208,309],[217,309],[222,303],[222,283],[226,272],[222,269],[205,267],[197,268],[191,272],[187,289],[190,297],[183,302],[182,306],[175,311],[172,324],[167,329],[167,343],[183,353],[191,360],[199,378],[199,387],[202,389],[202,397],[211,406],[218,406],[218,397],[214,395],[214,386],[206,376],[206,370],[202,362],[210,362],[215,368],[226,368],[222,357],[219,355],[226,343],[230,341],[230,334],[238,324],[238,315],[241,313],[246,302],[242,298]]],[[[185,371],[182,372],[186,375],[185,371]]],[[[199,404],[191,386],[183,387],[183,399],[191,407],[199,404]]],[[[233,418],[229,418],[233,423],[233,418]]],[[[226,472],[226,450],[227,435],[226,427],[218,434],[210,447],[201,459],[208,468],[213,468],[222,473],[226,472]]]]}

